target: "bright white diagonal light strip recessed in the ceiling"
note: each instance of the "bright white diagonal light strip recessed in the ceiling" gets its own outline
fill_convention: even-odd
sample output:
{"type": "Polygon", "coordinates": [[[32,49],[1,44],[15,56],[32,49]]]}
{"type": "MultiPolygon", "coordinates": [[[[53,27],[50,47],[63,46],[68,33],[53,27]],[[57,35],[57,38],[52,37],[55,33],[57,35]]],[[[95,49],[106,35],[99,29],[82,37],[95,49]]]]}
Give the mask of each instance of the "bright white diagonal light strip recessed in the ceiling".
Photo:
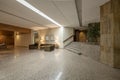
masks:
{"type": "Polygon", "coordinates": [[[58,25],[59,27],[63,27],[61,24],[59,24],[58,22],[54,21],[53,19],[51,19],[50,17],[48,17],[46,14],[44,14],[42,11],[38,10],[37,8],[35,8],[34,6],[32,6],[30,3],[28,3],[25,0],[16,0],[17,2],[21,3],[22,5],[24,5],[25,7],[31,9],[32,11],[36,12],[37,14],[41,15],[42,17],[48,19],[49,21],[51,21],[52,23],[58,25]]]}

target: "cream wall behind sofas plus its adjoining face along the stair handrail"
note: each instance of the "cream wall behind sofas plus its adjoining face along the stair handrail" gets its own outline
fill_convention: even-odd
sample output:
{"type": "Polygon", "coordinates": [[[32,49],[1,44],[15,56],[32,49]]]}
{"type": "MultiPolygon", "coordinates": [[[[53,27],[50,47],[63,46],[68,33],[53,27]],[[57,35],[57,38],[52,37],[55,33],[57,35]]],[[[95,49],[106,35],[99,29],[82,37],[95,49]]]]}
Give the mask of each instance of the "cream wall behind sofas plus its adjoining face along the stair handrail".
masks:
{"type": "MultiPolygon", "coordinates": [[[[41,43],[57,43],[60,48],[64,48],[65,45],[69,44],[71,41],[73,41],[73,38],[68,40],[66,43],[63,43],[63,41],[67,38],[69,38],[71,35],[74,34],[73,28],[51,28],[51,29],[43,29],[39,30],[39,40],[41,43]],[[45,36],[54,36],[55,41],[46,41],[45,36]]],[[[49,37],[50,38],[50,37],[49,37]]]]}

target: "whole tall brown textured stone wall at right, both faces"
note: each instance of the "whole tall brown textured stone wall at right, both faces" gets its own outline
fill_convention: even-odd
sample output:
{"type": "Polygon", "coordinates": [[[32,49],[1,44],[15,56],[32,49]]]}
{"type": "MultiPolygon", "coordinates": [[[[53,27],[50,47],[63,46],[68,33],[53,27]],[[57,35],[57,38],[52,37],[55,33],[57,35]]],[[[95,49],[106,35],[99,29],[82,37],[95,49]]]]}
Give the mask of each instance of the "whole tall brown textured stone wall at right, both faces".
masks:
{"type": "Polygon", "coordinates": [[[120,0],[101,6],[101,62],[120,68],[120,0]]]}

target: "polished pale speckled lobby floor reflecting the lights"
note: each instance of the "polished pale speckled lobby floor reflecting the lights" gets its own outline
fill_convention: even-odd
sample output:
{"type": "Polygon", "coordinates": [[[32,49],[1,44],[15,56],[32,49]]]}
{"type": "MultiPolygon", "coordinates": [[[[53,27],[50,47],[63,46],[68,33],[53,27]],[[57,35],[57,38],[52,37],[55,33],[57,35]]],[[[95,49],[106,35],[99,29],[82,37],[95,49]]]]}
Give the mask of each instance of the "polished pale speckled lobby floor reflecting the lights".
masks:
{"type": "Polygon", "coordinates": [[[120,69],[65,49],[0,51],[0,80],[120,80],[120,69]]]}

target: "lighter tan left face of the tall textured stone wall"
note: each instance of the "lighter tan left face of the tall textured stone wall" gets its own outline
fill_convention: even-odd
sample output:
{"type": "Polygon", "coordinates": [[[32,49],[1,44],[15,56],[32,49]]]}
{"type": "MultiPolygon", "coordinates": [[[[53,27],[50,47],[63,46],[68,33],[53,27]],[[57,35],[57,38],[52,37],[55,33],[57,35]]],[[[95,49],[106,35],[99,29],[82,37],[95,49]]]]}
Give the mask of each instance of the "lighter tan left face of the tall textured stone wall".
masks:
{"type": "Polygon", "coordinates": [[[113,66],[113,13],[111,2],[101,6],[101,61],[113,66]]]}

